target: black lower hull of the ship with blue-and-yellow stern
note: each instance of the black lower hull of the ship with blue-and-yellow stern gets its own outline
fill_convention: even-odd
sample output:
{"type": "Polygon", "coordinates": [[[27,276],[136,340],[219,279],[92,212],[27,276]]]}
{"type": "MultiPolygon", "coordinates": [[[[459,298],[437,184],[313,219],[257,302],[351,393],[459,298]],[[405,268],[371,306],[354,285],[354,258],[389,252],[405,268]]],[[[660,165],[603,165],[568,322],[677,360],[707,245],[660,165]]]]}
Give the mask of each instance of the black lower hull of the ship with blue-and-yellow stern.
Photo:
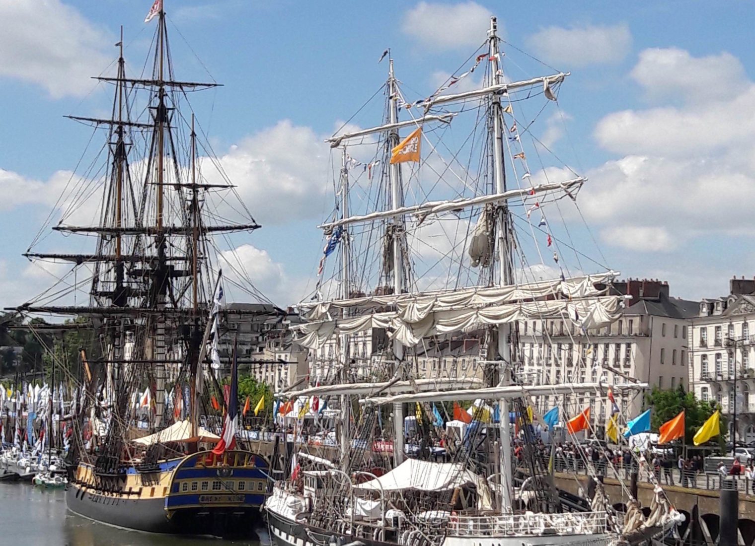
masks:
{"type": "Polygon", "coordinates": [[[165,498],[100,495],[77,486],[66,488],[66,505],[74,514],[107,525],[171,535],[254,536],[255,508],[184,508],[170,518],[165,498]]]}

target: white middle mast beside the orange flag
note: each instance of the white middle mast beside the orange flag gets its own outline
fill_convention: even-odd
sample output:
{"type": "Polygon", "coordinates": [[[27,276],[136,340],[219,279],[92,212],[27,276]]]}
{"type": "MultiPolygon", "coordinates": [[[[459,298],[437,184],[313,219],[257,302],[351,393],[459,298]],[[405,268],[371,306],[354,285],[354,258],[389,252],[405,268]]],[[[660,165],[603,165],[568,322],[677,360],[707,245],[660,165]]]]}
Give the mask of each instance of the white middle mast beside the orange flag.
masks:
{"type": "MultiPolygon", "coordinates": [[[[388,69],[388,123],[396,124],[399,121],[399,90],[396,86],[396,75],[393,73],[393,58],[389,59],[388,69]]],[[[392,150],[399,144],[399,130],[393,128],[388,133],[388,150],[392,150]]],[[[390,158],[390,153],[387,155],[390,158]]],[[[390,186],[390,207],[398,208],[402,205],[401,198],[401,172],[399,164],[389,164],[388,184],[390,186]]],[[[402,293],[402,219],[394,217],[391,223],[390,234],[393,238],[393,293],[398,295],[402,293]]],[[[393,340],[393,357],[395,359],[394,373],[402,366],[404,359],[404,347],[397,339],[393,340]]],[[[404,460],[404,407],[401,403],[393,404],[393,460],[396,466],[404,460]]]]}

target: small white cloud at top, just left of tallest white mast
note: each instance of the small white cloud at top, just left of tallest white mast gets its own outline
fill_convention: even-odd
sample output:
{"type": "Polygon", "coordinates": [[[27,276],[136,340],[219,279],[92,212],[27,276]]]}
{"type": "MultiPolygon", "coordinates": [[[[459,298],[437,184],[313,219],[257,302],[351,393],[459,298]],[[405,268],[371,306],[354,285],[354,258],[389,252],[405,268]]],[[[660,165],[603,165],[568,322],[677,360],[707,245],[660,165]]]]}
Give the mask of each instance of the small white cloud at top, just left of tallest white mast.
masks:
{"type": "MultiPolygon", "coordinates": [[[[406,35],[429,48],[474,48],[485,41],[490,16],[490,11],[476,2],[420,2],[406,12],[401,28],[406,35]]],[[[500,22],[498,33],[503,34],[500,22]]]]}

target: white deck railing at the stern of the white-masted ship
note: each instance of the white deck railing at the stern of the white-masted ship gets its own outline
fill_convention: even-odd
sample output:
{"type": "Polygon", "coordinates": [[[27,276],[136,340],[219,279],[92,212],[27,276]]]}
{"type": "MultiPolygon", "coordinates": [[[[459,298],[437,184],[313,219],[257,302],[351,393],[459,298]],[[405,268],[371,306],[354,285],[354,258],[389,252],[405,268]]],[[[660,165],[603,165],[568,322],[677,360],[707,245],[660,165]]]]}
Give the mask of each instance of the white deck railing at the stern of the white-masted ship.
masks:
{"type": "Polygon", "coordinates": [[[605,511],[453,516],[448,521],[448,534],[455,536],[591,535],[606,532],[606,521],[605,511]]]}

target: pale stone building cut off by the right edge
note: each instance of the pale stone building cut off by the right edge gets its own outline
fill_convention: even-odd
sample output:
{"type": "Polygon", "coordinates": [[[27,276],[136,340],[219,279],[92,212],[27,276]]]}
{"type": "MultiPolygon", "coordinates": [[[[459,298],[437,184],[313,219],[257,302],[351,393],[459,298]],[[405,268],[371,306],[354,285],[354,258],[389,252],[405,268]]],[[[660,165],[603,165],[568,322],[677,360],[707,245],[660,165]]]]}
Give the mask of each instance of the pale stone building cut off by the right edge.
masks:
{"type": "Polygon", "coordinates": [[[700,302],[692,321],[689,382],[700,400],[720,406],[729,438],[744,442],[755,441],[753,358],[755,280],[734,278],[728,296],[700,302]]]}

